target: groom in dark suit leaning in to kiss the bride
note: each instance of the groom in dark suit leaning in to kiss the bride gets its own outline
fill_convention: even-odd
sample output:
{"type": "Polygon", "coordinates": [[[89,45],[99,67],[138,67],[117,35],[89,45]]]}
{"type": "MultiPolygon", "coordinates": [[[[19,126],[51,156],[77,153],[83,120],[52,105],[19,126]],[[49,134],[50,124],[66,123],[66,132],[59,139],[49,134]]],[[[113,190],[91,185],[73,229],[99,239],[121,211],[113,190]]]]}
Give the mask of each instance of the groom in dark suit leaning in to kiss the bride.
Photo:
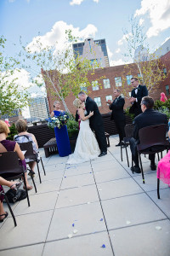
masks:
{"type": "Polygon", "coordinates": [[[101,154],[99,154],[99,156],[103,156],[107,154],[107,144],[103,127],[103,120],[101,114],[99,113],[99,108],[96,102],[88,97],[83,91],[79,92],[78,98],[82,102],[85,102],[85,107],[88,114],[90,111],[94,111],[94,115],[89,119],[90,128],[92,129],[92,131],[95,131],[95,136],[99,144],[99,149],[101,151],[101,154]]]}

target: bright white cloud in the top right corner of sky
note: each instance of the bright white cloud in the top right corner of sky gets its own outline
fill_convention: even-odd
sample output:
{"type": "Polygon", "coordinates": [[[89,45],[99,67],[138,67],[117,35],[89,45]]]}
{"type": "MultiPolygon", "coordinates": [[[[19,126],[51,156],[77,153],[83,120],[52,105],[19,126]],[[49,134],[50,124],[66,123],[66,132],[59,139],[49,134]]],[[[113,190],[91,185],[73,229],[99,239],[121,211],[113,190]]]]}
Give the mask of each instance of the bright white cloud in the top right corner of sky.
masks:
{"type": "Polygon", "coordinates": [[[135,16],[149,14],[151,26],[146,32],[148,38],[157,36],[161,31],[170,27],[170,1],[169,0],[142,0],[141,8],[137,9],[135,16]]]}

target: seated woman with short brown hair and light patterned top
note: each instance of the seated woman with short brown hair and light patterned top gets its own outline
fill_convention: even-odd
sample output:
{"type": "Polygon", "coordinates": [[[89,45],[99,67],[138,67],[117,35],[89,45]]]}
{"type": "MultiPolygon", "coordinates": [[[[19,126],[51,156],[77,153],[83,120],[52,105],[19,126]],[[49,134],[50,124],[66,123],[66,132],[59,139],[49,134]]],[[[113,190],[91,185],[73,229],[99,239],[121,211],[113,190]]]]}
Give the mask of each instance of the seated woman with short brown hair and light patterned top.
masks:
{"type": "MultiPolygon", "coordinates": [[[[18,135],[14,136],[14,141],[19,144],[32,142],[33,152],[34,152],[34,154],[37,154],[38,159],[39,159],[39,154],[38,154],[39,152],[38,152],[38,145],[37,145],[36,137],[33,134],[27,132],[28,127],[26,125],[26,121],[24,119],[19,119],[16,122],[15,127],[16,127],[16,130],[18,131],[18,135]]],[[[34,167],[36,166],[36,161],[26,159],[26,163],[27,162],[29,162],[28,165],[30,166],[30,169],[31,169],[30,172],[34,176],[35,175],[34,167]]],[[[28,173],[28,175],[31,175],[30,172],[28,173]]]]}

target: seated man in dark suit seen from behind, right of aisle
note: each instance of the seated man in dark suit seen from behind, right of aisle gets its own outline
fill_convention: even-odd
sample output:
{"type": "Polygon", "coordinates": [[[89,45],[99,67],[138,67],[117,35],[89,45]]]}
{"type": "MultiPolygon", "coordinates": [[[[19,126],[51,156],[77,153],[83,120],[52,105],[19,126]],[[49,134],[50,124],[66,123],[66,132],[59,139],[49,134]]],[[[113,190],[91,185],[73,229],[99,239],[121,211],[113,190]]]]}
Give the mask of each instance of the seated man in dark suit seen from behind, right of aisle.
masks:
{"type": "MultiPolygon", "coordinates": [[[[154,100],[150,96],[144,96],[141,101],[141,109],[143,113],[140,113],[133,120],[134,130],[133,138],[130,139],[130,148],[132,152],[134,166],[131,167],[133,172],[141,172],[139,168],[139,155],[137,151],[137,144],[139,144],[139,129],[151,125],[167,124],[167,115],[160,113],[153,109],[154,100]],[[132,169],[133,168],[133,169],[132,169]]],[[[150,168],[152,171],[156,171],[155,154],[149,154],[150,168]]]]}

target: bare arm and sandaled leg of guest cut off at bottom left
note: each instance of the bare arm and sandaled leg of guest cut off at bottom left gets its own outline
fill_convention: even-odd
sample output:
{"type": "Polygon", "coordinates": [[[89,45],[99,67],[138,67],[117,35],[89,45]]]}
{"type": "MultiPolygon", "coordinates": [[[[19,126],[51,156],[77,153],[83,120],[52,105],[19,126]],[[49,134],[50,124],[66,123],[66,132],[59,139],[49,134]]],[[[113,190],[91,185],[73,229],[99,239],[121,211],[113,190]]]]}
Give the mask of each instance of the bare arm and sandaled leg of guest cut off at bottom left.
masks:
{"type": "MultiPolygon", "coordinates": [[[[10,189],[19,189],[21,183],[7,181],[3,177],[0,177],[0,192],[4,192],[2,185],[8,186],[10,189]]],[[[3,208],[3,195],[0,195],[0,222],[3,222],[3,219],[7,217],[8,217],[8,212],[5,212],[3,208]]]]}

